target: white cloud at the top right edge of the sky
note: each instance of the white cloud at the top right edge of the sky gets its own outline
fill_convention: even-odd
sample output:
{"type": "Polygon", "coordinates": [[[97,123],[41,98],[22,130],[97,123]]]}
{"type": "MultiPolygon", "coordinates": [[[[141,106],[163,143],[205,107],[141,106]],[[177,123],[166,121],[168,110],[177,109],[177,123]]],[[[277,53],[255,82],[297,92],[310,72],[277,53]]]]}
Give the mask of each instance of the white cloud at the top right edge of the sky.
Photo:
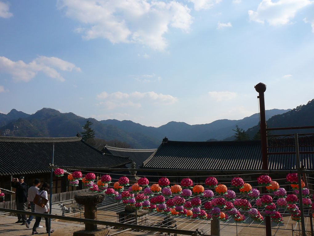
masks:
{"type": "Polygon", "coordinates": [[[249,10],[250,20],[259,23],[267,21],[270,25],[285,25],[295,17],[301,8],[311,4],[310,0],[263,0],[257,11],[249,10]]]}

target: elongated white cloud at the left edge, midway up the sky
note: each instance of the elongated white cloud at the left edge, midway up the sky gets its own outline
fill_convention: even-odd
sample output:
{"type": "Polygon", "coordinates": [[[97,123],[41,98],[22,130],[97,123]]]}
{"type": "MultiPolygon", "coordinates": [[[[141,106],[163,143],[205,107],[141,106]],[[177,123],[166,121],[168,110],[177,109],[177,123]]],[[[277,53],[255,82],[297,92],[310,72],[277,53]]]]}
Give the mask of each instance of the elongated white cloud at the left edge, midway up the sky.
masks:
{"type": "Polygon", "coordinates": [[[11,75],[16,81],[30,81],[38,72],[43,72],[50,78],[64,81],[57,70],[72,71],[73,69],[81,71],[74,64],[57,57],[39,56],[28,64],[22,60],[15,62],[6,57],[0,57],[0,72],[11,75]]]}

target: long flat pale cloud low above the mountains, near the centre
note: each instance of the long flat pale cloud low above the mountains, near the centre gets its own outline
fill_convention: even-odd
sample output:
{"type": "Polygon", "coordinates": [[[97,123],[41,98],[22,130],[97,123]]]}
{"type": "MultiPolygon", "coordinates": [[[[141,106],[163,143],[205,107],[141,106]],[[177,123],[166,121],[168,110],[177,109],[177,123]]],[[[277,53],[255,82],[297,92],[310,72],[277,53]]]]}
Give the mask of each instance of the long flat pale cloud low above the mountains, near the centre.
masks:
{"type": "Polygon", "coordinates": [[[115,109],[117,107],[142,107],[142,103],[154,102],[155,104],[174,104],[178,98],[168,94],[155,93],[155,92],[133,92],[133,93],[107,93],[102,92],[97,95],[98,99],[104,100],[97,103],[97,106],[104,105],[107,109],[115,109]]]}

